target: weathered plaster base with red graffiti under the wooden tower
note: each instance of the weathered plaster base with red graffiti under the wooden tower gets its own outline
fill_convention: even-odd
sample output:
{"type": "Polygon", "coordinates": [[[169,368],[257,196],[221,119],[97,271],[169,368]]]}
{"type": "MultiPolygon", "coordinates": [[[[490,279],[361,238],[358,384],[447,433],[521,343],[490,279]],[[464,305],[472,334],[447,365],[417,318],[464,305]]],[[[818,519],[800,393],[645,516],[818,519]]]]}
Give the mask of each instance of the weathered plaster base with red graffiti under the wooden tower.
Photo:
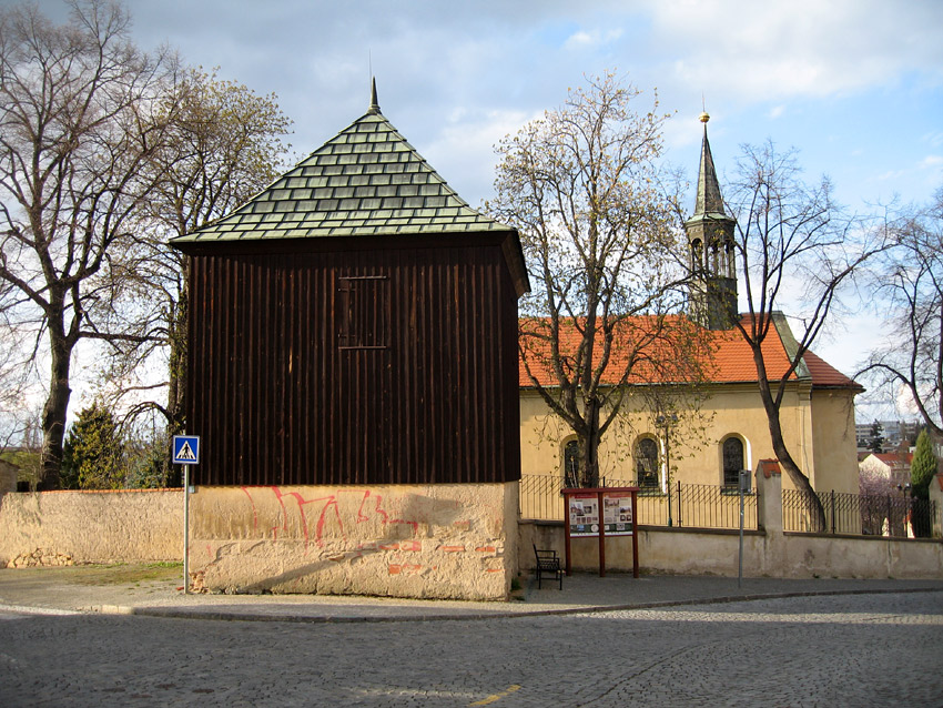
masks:
{"type": "Polygon", "coordinates": [[[210,591],[503,600],[516,570],[517,484],[199,487],[190,498],[190,572],[210,591]]]}

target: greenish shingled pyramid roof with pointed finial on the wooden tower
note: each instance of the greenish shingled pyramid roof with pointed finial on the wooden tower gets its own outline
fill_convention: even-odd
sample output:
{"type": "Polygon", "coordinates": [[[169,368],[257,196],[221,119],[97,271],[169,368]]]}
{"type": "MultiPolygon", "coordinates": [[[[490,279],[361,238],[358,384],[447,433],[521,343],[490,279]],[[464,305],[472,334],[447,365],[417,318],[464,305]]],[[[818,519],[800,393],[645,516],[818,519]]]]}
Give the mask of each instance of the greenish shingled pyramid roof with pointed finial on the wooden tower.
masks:
{"type": "Polygon", "coordinates": [[[472,209],[376,101],[252,200],[172,243],[513,231],[472,209]]]}

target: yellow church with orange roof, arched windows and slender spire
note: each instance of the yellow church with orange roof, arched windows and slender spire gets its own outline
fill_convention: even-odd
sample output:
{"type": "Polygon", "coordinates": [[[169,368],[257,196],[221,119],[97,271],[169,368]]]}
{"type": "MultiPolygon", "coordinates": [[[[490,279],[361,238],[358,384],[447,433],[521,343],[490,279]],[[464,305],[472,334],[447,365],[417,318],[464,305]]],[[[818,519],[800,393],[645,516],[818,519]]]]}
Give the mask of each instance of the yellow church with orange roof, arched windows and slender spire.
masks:
{"type": "MultiPolygon", "coordinates": [[[[730,488],[739,471],[753,471],[760,459],[775,457],[752,353],[734,328],[738,318],[748,322],[751,315],[738,313],[736,222],[723,206],[707,119],[701,117],[704,134],[694,211],[685,229],[692,275],[687,316],[702,327],[713,351],[710,375],[697,409],[682,405],[687,408],[682,414],[666,416],[652,409],[651,396],[629,396],[620,424],[607,432],[599,451],[599,474],[610,486],[665,492],[669,482],[680,482],[730,488]]],[[[770,381],[778,381],[789,370],[797,343],[787,317],[780,312],[771,317],[763,354],[770,381]]],[[[555,380],[545,371],[538,372],[538,381],[551,387],[555,380]]],[[[576,436],[550,414],[523,363],[519,382],[521,472],[556,476],[569,486],[568,473],[578,454],[576,436]]],[[[640,376],[630,383],[639,391],[670,384],[640,376]]],[[[785,444],[818,492],[858,494],[854,396],[861,391],[812,352],[789,377],[781,408],[785,444]]],[[[792,487],[785,477],[783,485],[792,487]]]]}

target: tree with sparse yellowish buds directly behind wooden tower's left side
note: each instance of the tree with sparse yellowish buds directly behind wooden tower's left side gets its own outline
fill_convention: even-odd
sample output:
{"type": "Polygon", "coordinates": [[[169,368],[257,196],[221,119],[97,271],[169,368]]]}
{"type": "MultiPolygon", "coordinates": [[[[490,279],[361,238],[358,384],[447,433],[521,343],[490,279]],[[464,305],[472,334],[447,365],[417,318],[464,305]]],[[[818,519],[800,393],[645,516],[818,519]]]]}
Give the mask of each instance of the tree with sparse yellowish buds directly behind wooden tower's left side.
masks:
{"type": "Polygon", "coordinates": [[[166,390],[166,406],[152,397],[132,407],[129,418],[156,409],[174,435],[184,427],[187,259],[166,242],[225,215],[275,179],[291,121],[274,95],[257,95],[197,69],[182,73],[164,103],[168,140],[145,165],[154,186],[134,243],[130,286],[135,296],[124,312],[125,326],[136,322],[140,328],[143,313],[136,310],[149,302],[154,323],[150,336],[115,343],[110,373],[113,381],[128,381],[151,354],[166,356],[165,380],[120,387],[115,395],[142,387],[166,390]]]}

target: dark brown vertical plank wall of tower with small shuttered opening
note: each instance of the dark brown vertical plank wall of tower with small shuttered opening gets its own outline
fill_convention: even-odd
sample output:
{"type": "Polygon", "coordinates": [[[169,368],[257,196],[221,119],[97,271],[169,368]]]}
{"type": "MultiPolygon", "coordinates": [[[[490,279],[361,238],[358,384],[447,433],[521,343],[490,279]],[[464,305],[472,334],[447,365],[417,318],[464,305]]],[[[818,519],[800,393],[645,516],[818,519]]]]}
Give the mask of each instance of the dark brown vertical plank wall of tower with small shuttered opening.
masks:
{"type": "Polygon", "coordinates": [[[190,342],[199,484],[520,476],[517,296],[500,244],[203,249],[190,342]]]}

